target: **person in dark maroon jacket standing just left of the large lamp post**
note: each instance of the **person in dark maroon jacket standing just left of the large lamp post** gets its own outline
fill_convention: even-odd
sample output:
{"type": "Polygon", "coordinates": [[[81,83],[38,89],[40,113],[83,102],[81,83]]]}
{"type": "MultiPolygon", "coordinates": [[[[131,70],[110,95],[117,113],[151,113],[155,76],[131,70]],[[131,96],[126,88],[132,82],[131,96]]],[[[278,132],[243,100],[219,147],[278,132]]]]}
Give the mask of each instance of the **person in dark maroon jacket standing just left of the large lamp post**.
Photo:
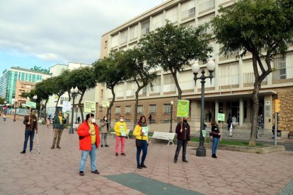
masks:
{"type": "Polygon", "coordinates": [[[186,147],[188,145],[188,141],[190,141],[190,126],[188,124],[188,118],[184,117],[183,122],[180,122],[176,126],[176,134],[177,134],[177,148],[174,156],[174,163],[177,163],[178,155],[180,153],[181,146],[183,146],[182,150],[182,161],[188,162],[186,160],[186,147]]]}

